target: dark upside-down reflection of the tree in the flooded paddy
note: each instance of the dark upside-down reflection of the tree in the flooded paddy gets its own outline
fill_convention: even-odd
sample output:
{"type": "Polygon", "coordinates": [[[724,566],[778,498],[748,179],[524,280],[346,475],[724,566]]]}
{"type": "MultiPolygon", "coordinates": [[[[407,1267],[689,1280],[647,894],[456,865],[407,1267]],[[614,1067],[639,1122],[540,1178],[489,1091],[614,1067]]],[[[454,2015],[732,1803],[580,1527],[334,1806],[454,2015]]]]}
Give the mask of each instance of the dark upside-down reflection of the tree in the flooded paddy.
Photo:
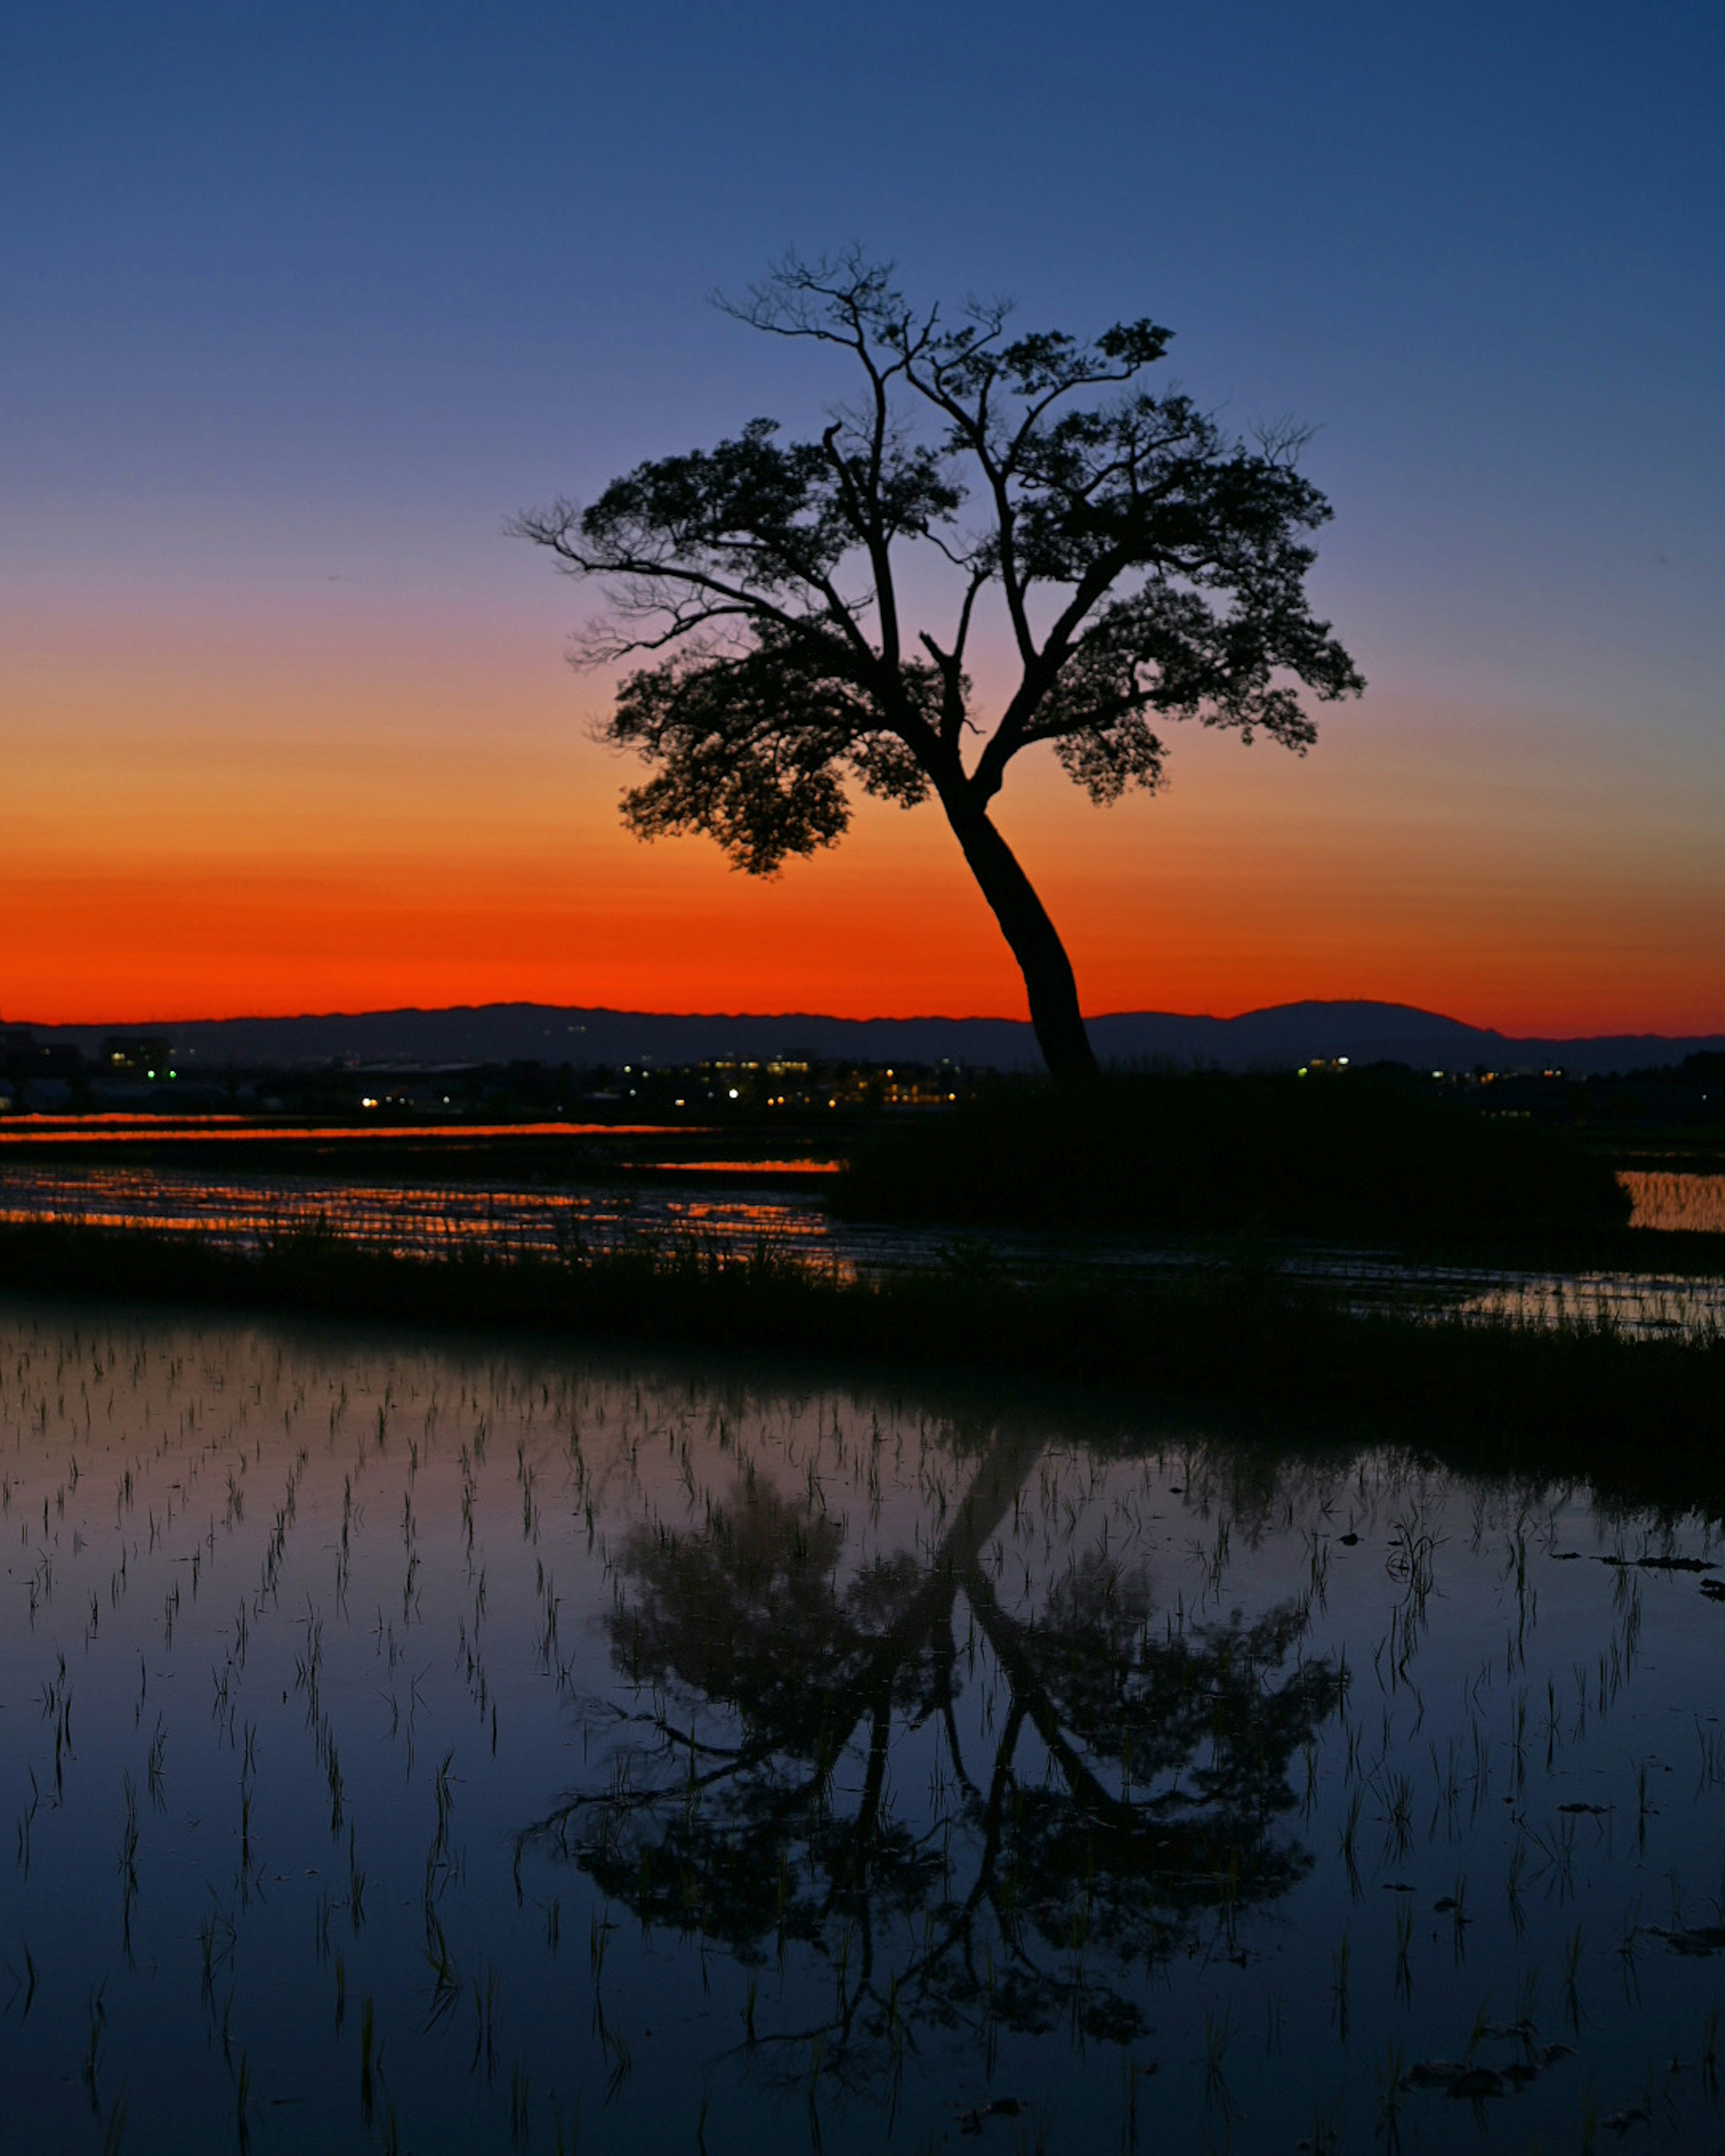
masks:
{"type": "Polygon", "coordinates": [[[936,2029],[1130,2042],[1158,1958],[1233,1951],[1311,1861],[1289,1761],[1341,1677],[1300,1656],[1305,1604],[1184,1623],[1091,1552],[1009,1608],[994,1537],[1039,1457],[996,1436],[925,1559],[850,1574],[845,1524],[753,1470],[699,1533],[636,1529],[608,1630],[651,1705],[522,1837],[647,1925],[824,1962],[830,1992],[750,2042],[845,2081],[936,2029]]]}

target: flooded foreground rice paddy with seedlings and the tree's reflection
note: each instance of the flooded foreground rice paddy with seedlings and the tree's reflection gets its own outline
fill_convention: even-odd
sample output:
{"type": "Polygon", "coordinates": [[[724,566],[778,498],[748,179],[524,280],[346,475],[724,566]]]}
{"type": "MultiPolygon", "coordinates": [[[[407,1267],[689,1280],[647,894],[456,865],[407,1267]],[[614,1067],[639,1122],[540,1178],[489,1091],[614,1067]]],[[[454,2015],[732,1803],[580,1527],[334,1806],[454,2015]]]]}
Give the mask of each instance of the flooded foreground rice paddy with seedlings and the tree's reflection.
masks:
{"type": "Polygon", "coordinates": [[[0,1537],[6,2150],[1721,2145],[1701,1518],[0,1304],[0,1537]]]}

